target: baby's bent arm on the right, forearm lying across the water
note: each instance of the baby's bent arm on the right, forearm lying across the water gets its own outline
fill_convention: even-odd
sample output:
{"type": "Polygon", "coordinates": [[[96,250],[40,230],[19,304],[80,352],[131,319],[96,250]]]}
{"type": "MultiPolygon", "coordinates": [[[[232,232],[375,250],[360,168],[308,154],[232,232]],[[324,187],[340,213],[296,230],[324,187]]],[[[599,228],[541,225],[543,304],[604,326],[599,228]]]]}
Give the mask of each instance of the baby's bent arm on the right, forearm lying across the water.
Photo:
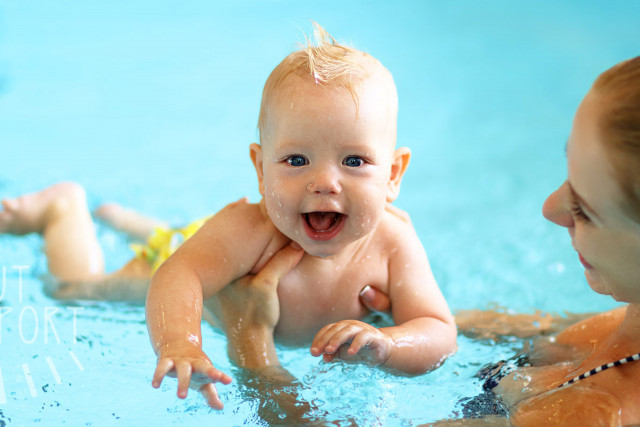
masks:
{"type": "Polygon", "coordinates": [[[397,326],[377,329],[355,320],[327,325],[316,335],[311,352],[326,360],[362,360],[422,374],[455,352],[456,327],[413,227],[398,220],[392,224],[388,247],[396,250],[389,260],[389,297],[397,326]]]}

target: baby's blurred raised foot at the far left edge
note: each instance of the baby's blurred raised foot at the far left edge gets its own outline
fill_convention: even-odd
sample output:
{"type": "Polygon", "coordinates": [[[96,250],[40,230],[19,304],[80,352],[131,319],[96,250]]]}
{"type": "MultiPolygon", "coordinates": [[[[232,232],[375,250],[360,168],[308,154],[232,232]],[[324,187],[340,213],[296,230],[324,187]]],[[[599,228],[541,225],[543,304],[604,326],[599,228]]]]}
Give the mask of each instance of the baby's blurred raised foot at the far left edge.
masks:
{"type": "Polygon", "coordinates": [[[0,210],[0,233],[42,233],[55,210],[72,201],[86,203],[85,197],[80,185],[61,182],[15,199],[4,199],[0,210]]]}

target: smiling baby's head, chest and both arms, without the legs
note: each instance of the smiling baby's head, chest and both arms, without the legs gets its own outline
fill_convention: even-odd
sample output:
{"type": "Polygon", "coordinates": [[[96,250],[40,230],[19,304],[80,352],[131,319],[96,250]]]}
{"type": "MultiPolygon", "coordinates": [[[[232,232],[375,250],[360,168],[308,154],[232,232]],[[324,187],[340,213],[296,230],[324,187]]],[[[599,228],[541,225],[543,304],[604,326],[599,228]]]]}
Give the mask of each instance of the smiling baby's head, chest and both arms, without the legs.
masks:
{"type": "MultiPolygon", "coordinates": [[[[455,351],[456,327],[407,214],[390,205],[409,164],[395,148],[397,94],[379,61],[339,45],[315,25],[316,44],[287,56],[264,87],[260,144],[250,156],[259,203],[232,204],[211,217],[154,274],[147,325],[158,365],[178,395],[230,377],[202,351],[203,305],[215,316],[227,284],[261,270],[292,243],[304,255],[278,286],[274,335],[325,360],[361,360],[422,374],[455,351]],[[358,294],[389,295],[396,326],[375,328],[358,294]]],[[[224,327],[224,325],[222,325],[224,327]]],[[[233,328],[226,328],[233,334],[233,328]]],[[[211,397],[213,396],[213,397],[211,397]]]]}

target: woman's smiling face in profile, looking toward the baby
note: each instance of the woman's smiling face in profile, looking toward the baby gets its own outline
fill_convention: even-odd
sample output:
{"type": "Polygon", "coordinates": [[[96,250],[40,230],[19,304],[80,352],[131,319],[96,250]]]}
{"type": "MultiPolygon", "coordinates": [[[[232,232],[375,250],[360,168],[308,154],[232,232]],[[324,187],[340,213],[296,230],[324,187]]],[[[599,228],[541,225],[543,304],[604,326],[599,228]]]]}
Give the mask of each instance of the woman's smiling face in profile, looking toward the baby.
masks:
{"type": "Polygon", "coordinates": [[[567,142],[568,179],[545,201],[545,218],[566,227],[591,288],[640,303],[640,224],[620,207],[623,193],[598,128],[602,98],[580,104],[567,142]]]}

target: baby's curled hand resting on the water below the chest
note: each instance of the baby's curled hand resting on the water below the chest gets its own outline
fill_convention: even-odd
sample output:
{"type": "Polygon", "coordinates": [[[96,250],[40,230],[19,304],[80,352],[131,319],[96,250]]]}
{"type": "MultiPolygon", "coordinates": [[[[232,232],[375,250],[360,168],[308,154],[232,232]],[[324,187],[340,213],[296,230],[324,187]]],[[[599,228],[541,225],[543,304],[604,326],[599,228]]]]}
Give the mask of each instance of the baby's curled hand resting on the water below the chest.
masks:
{"type": "Polygon", "coordinates": [[[391,354],[391,338],[368,323],[343,320],[325,326],[311,343],[311,354],[325,362],[335,358],[381,365],[391,354]]]}

